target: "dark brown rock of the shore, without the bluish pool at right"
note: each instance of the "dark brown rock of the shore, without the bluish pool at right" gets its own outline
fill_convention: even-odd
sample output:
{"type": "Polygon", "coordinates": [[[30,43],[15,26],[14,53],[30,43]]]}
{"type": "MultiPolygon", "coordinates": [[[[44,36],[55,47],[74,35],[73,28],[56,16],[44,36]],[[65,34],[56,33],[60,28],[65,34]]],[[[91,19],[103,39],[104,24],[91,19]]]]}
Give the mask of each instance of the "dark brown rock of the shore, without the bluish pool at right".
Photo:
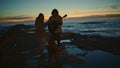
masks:
{"type": "MultiPolygon", "coordinates": [[[[47,37],[49,37],[49,33],[47,34],[47,37]]],[[[11,29],[0,38],[1,67],[70,68],[69,65],[67,66],[67,64],[80,65],[86,63],[86,60],[80,59],[76,55],[86,56],[87,50],[102,50],[115,55],[120,55],[120,38],[88,36],[72,32],[63,33],[62,36],[63,42],[61,42],[60,48],[63,48],[63,51],[58,52],[60,56],[60,62],[53,62],[48,64],[48,52],[42,56],[35,52],[35,50],[40,47],[35,30],[26,25],[16,25],[11,27],[11,29]],[[70,42],[66,42],[64,40],[69,40],[70,42]],[[69,53],[68,50],[74,47],[86,51],[75,55],[74,53],[69,53]]],[[[77,65],[74,67],[77,67],[77,65]]]]}

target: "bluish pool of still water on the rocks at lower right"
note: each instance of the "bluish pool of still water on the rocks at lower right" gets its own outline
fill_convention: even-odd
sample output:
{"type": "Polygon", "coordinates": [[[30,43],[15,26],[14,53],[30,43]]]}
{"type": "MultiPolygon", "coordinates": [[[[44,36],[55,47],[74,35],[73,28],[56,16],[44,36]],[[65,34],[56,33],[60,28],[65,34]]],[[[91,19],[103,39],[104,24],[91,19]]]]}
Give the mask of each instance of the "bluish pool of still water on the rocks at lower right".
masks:
{"type": "Polygon", "coordinates": [[[119,68],[120,67],[120,56],[113,55],[109,52],[101,50],[83,50],[76,46],[69,45],[66,47],[67,53],[75,55],[80,59],[86,60],[86,63],[78,65],[77,68],[119,68]],[[85,53],[86,52],[86,53],[85,53]],[[82,55],[86,54],[86,55],[82,55]]]}

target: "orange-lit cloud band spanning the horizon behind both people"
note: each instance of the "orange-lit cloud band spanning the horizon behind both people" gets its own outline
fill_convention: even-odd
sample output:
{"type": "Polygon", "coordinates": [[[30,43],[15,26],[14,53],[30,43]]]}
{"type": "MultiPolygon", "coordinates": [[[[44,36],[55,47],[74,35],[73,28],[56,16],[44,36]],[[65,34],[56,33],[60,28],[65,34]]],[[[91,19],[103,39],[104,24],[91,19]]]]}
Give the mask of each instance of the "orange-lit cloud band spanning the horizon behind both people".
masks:
{"type": "MultiPolygon", "coordinates": [[[[119,20],[120,17],[109,17],[106,15],[118,15],[120,14],[120,11],[99,11],[99,12],[82,12],[82,13],[71,13],[68,14],[68,19],[70,21],[74,20],[119,20]],[[104,18],[103,18],[104,17],[104,18]]],[[[45,21],[47,21],[49,16],[45,16],[45,21]]],[[[17,22],[27,22],[27,21],[34,21],[36,17],[31,16],[14,16],[14,17],[6,17],[6,18],[0,18],[0,23],[17,23],[17,22]]]]}

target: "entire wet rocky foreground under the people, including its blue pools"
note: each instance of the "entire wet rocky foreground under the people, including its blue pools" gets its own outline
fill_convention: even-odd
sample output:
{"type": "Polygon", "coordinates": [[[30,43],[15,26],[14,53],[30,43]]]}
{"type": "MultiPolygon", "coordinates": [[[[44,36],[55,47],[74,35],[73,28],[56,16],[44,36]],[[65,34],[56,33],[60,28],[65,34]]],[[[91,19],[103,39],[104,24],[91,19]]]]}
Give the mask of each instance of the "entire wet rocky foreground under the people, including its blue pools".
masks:
{"type": "MultiPolygon", "coordinates": [[[[120,67],[120,38],[63,33],[61,44],[58,47],[62,50],[53,53],[60,57],[59,61],[49,63],[48,45],[45,54],[36,53],[35,50],[40,47],[40,44],[35,30],[30,28],[26,25],[16,25],[1,37],[1,68],[120,67]],[[109,58],[106,58],[108,56],[109,58]],[[100,59],[105,61],[105,65],[100,59]],[[95,61],[97,62],[95,63],[95,61]]],[[[49,37],[49,33],[47,34],[49,37]]]]}

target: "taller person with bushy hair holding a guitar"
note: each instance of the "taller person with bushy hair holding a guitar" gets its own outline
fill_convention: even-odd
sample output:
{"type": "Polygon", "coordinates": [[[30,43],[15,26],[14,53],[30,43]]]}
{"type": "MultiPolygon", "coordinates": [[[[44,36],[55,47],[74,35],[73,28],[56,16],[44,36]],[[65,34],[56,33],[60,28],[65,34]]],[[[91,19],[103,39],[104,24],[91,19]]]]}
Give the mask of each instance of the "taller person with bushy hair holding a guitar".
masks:
{"type": "Polygon", "coordinates": [[[63,24],[62,17],[59,15],[57,9],[53,9],[48,20],[48,30],[51,33],[51,37],[54,38],[54,41],[57,41],[57,44],[60,44],[63,24]]]}

